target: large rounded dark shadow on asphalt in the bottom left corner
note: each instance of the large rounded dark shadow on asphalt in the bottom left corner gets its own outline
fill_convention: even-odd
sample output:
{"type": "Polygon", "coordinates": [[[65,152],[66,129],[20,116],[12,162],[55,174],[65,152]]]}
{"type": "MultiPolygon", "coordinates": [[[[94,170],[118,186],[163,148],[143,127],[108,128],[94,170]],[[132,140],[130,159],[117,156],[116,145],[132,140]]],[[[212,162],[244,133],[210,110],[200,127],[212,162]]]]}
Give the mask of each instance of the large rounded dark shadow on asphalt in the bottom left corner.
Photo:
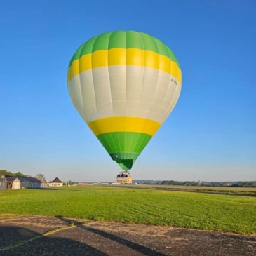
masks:
{"type": "Polygon", "coordinates": [[[0,227],[0,256],[11,255],[107,256],[101,250],[72,238],[42,236],[21,227],[0,227]]]}

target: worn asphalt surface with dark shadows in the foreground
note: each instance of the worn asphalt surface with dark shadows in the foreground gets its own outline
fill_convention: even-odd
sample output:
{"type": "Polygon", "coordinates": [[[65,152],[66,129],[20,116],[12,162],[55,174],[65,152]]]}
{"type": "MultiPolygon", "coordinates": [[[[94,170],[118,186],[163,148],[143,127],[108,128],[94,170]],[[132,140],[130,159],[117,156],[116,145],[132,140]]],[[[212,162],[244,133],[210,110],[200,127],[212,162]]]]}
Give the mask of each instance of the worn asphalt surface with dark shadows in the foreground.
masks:
{"type": "Polygon", "coordinates": [[[0,218],[0,256],[256,255],[256,236],[34,215],[0,218]]]}

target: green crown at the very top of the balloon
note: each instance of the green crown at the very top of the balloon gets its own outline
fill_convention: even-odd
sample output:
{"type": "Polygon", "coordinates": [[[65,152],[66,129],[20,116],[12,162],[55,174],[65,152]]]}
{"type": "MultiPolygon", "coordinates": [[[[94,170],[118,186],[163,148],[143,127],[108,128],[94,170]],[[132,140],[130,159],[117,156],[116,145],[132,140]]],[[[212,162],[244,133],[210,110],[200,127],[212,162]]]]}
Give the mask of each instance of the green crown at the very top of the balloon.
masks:
{"type": "Polygon", "coordinates": [[[76,53],[69,62],[69,66],[74,60],[81,58],[83,55],[93,53],[96,50],[109,50],[113,48],[151,50],[160,55],[165,55],[180,67],[173,51],[168,46],[153,36],[135,31],[115,31],[94,36],[76,50],[76,53]]]}

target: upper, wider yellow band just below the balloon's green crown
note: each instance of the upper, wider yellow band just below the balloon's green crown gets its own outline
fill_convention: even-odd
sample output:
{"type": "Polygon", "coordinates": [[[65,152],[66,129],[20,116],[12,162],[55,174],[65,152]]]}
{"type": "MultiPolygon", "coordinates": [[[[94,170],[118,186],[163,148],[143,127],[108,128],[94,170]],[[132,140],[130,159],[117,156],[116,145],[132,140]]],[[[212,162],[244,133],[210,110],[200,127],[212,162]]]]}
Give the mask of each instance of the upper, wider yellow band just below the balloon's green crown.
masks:
{"type": "Polygon", "coordinates": [[[67,72],[67,81],[73,76],[88,69],[111,65],[137,65],[152,67],[177,78],[181,83],[181,70],[176,62],[165,55],[159,55],[151,50],[113,48],[110,50],[97,50],[74,60],[67,72]]]}

